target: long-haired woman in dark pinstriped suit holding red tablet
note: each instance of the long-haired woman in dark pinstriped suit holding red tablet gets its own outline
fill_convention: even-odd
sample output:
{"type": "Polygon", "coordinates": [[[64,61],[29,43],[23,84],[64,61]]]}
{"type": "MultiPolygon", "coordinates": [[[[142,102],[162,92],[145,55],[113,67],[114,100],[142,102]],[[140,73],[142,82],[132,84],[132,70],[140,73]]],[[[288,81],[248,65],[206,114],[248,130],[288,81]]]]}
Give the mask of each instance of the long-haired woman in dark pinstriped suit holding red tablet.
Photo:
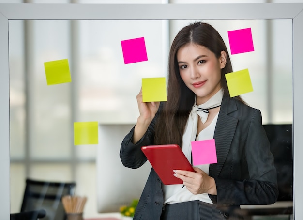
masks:
{"type": "Polygon", "coordinates": [[[276,202],[276,170],[261,113],[240,96],[230,98],[229,72],[222,37],[209,24],[193,23],[170,48],[167,102],[144,103],[142,90],[137,95],[140,115],[121,144],[124,166],[142,166],[147,159],[141,147],[153,144],[179,144],[191,161],[191,141],[212,138],[218,162],[195,166],[196,172],[175,170],[182,185],[162,184],[152,169],[134,220],[242,219],[240,205],[276,202]]]}

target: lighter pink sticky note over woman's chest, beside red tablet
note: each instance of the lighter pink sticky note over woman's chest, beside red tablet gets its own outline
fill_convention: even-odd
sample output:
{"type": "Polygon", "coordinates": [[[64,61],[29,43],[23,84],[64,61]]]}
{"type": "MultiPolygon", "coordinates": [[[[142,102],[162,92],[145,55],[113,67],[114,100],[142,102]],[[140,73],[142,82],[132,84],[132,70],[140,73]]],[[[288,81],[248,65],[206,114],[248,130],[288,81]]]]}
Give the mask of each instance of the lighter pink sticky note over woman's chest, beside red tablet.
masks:
{"type": "Polygon", "coordinates": [[[217,163],[217,152],[214,139],[192,141],[193,165],[217,163]]]}

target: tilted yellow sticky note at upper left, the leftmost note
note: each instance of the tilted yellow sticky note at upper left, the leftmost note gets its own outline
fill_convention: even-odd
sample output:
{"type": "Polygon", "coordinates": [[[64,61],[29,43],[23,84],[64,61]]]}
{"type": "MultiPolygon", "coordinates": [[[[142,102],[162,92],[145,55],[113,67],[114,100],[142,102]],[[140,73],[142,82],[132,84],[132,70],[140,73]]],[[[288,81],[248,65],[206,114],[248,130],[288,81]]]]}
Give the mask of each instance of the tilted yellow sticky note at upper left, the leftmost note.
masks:
{"type": "Polygon", "coordinates": [[[47,85],[71,82],[68,60],[50,61],[44,63],[47,85]]]}

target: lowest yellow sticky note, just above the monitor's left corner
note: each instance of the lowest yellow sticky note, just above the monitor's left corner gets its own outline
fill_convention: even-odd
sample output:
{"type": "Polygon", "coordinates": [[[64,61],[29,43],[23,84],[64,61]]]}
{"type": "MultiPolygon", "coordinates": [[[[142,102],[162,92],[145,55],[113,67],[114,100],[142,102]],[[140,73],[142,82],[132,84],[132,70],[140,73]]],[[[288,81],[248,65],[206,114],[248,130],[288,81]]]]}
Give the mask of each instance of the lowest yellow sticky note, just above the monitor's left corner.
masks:
{"type": "Polygon", "coordinates": [[[98,144],[98,122],[74,122],[74,144],[98,144]]]}

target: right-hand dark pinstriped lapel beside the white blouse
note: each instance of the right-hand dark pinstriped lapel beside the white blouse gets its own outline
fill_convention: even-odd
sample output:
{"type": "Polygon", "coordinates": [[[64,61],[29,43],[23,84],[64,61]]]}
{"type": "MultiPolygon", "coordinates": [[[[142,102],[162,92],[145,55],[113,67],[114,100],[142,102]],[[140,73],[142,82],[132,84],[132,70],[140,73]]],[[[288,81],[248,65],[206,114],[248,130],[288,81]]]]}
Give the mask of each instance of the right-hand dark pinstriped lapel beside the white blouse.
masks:
{"type": "Polygon", "coordinates": [[[224,95],[213,136],[216,144],[218,162],[210,164],[209,174],[212,177],[217,177],[219,175],[226,160],[238,123],[238,119],[231,117],[228,114],[236,110],[237,104],[235,100],[224,95]]]}

